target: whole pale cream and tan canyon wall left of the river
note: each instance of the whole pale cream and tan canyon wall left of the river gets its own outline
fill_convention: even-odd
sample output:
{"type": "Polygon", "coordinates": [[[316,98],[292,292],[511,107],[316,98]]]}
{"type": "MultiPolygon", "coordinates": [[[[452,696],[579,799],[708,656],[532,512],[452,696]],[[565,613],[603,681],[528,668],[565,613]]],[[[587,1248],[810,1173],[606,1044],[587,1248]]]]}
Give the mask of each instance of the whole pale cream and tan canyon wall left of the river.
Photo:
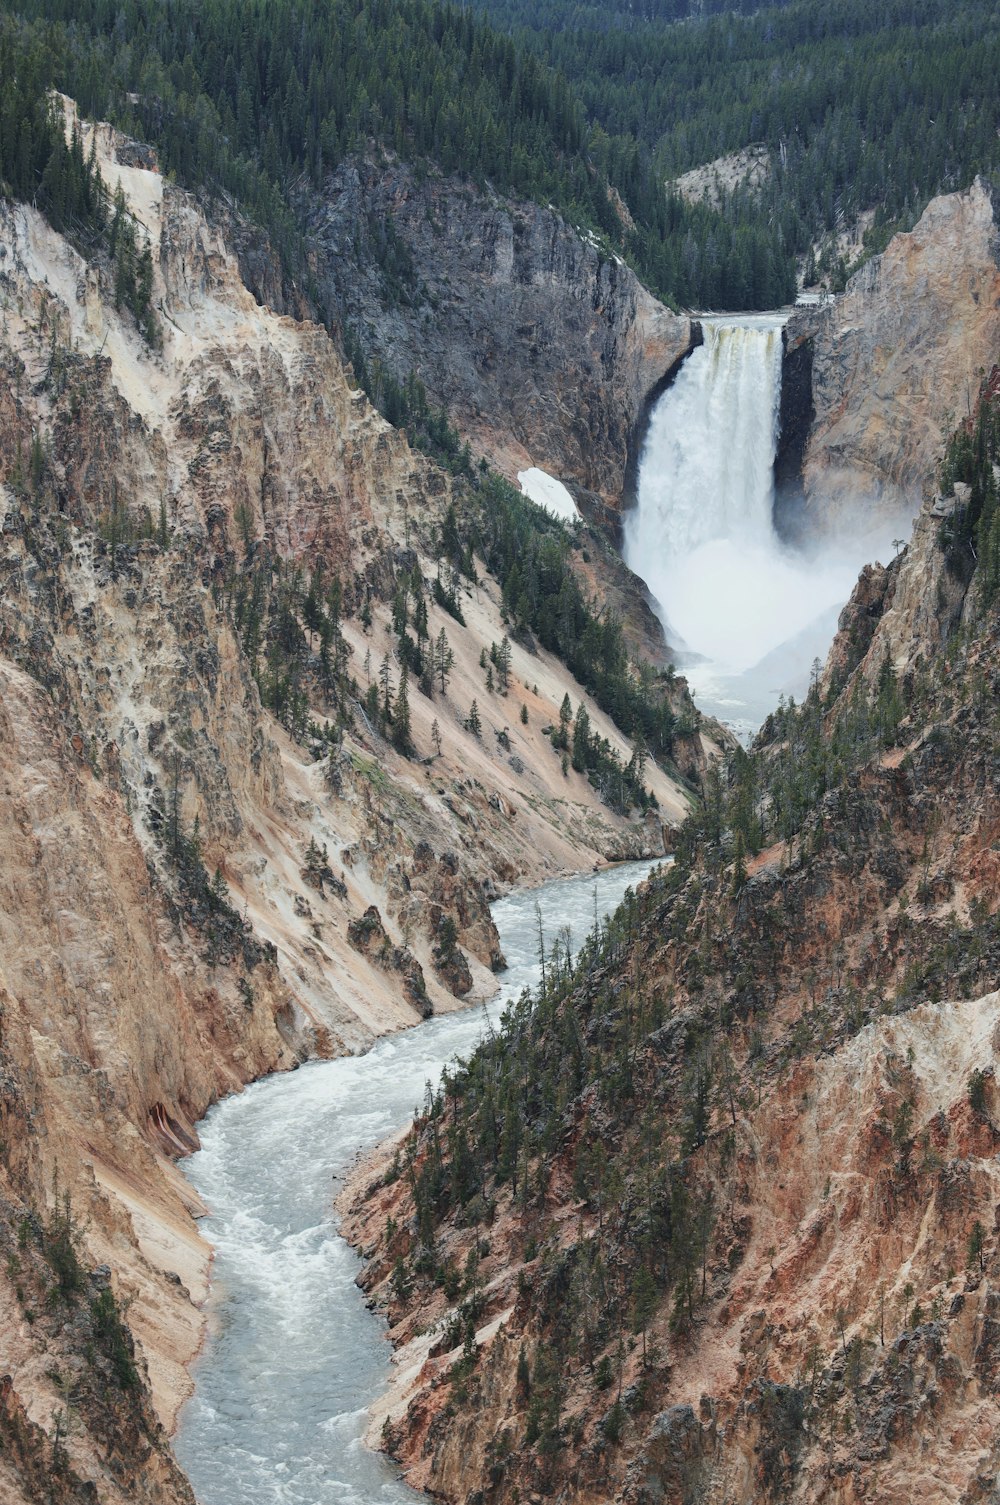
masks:
{"type": "MultiPolygon", "coordinates": [[[[563,774],[545,728],[566,692],[631,748],[553,655],[514,643],[489,688],[508,625],[486,572],[455,587],[464,625],[425,597],[452,661],[444,691],[411,685],[413,756],[372,725],[380,667],[401,685],[395,597],[414,576],[431,596],[468,489],[351,387],[325,331],[255,299],[253,236],[230,244],[148,152],[93,134],[154,253],[152,348],[107,260],[0,206],[5,1505],[190,1500],[167,1434],[208,1251],[173,1160],[206,1106],[482,996],[489,897],[664,838],[563,774]],[[301,622],[318,566],[336,695],[327,608],[301,622]]],[[[679,781],[648,783],[676,825],[679,781]]]]}

